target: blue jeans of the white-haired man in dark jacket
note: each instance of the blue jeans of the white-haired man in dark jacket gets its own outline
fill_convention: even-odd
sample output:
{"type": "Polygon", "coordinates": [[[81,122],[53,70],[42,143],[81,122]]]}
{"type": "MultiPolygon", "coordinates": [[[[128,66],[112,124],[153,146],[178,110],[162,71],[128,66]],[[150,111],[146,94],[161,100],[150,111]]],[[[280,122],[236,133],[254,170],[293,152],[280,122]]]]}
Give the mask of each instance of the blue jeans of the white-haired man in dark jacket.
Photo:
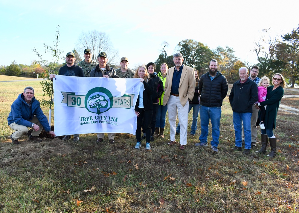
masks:
{"type": "MultiPolygon", "coordinates": [[[[233,122],[235,129],[235,146],[242,147],[242,121],[244,126],[245,149],[251,149],[251,115],[250,112],[233,112],[233,122]]],[[[262,133],[263,134],[263,133],[262,133]]]]}

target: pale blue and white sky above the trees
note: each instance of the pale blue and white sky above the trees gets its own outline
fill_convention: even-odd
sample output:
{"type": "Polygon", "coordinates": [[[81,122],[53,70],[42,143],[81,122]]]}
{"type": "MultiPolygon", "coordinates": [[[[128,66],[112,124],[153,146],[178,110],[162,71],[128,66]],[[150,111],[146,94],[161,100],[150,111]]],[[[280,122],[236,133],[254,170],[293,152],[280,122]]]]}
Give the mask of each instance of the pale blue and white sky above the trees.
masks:
{"type": "MultiPolygon", "coordinates": [[[[0,0],[0,65],[31,64],[34,47],[44,59],[43,44],[53,45],[60,25],[58,48],[73,50],[82,32],[105,32],[129,58],[129,67],[155,61],[163,41],[168,54],[184,39],[207,44],[210,49],[229,46],[242,61],[256,63],[252,52],[264,28],[271,36],[290,33],[299,24],[299,1],[2,1],[0,0]]],[[[109,55],[108,55],[109,57],[109,55]]],[[[83,55],[82,55],[83,58],[83,55]]],[[[62,63],[62,61],[60,61],[62,63]]]]}

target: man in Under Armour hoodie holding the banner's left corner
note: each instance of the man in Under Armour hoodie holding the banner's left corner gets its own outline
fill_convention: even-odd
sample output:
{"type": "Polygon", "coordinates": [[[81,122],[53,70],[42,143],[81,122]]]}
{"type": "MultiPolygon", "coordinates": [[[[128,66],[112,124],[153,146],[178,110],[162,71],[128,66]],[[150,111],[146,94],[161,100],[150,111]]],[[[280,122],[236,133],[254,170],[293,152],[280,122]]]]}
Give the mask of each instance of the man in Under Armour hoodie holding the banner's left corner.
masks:
{"type": "MultiPolygon", "coordinates": [[[[84,72],[81,67],[79,67],[75,61],[75,54],[72,52],[69,52],[66,54],[65,57],[66,64],[63,67],[60,67],[58,75],[66,75],[66,76],[74,76],[74,77],[84,77],[84,72]]],[[[50,79],[53,81],[53,78],[55,78],[54,74],[50,74],[50,79]]],[[[71,135],[65,135],[62,140],[68,140],[71,138],[71,135]]],[[[79,135],[74,135],[73,138],[74,142],[79,141],[79,135]]]]}

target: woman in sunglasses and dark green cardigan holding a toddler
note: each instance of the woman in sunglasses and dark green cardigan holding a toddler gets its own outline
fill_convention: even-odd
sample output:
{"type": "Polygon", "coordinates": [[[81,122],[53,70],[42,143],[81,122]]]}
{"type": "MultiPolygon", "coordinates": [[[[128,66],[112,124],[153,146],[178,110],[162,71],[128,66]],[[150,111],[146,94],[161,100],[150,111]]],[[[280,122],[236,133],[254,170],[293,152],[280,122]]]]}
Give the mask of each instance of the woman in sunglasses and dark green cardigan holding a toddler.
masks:
{"type": "MultiPolygon", "coordinates": [[[[284,95],[284,88],[286,87],[286,81],[280,73],[276,73],[272,77],[273,86],[267,87],[266,100],[258,103],[256,107],[266,106],[265,115],[265,129],[261,129],[261,143],[262,147],[257,153],[266,153],[268,138],[271,147],[269,155],[270,158],[274,158],[276,155],[276,138],[273,134],[273,129],[276,127],[276,116],[279,108],[280,100],[284,95]]],[[[259,113],[260,116],[260,113],[259,113]]],[[[260,123],[260,118],[257,119],[257,126],[260,123]]]]}

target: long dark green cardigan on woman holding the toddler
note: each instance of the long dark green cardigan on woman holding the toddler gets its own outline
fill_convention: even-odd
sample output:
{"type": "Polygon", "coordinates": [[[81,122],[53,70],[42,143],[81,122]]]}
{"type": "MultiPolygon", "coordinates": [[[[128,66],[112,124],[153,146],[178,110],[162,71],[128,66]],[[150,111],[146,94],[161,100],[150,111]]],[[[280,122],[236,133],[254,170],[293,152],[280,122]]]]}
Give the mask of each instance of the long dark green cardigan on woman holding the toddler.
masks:
{"type": "MultiPolygon", "coordinates": [[[[267,96],[266,101],[260,102],[260,105],[262,107],[266,107],[266,115],[265,115],[265,129],[275,129],[276,127],[276,116],[277,111],[279,108],[279,104],[281,101],[281,98],[284,95],[284,89],[283,87],[279,86],[276,89],[272,90],[274,86],[267,87],[267,96]],[[273,122],[273,126],[271,126],[273,122]]],[[[257,119],[258,122],[260,122],[260,119],[257,119]]]]}

